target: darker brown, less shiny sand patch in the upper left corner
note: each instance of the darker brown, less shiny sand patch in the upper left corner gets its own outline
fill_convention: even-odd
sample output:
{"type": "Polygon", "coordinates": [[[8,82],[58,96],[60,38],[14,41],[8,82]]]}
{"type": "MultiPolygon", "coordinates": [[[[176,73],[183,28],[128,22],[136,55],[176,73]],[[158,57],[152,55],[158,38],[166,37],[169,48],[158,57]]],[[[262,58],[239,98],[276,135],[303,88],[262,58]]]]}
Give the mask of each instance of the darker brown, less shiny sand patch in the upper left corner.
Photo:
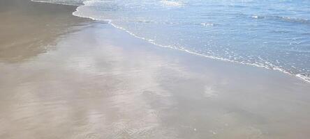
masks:
{"type": "Polygon", "coordinates": [[[0,60],[17,62],[53,49],[59,35],[73,31],[89,19],[72,16],[75,6],[0,1],[0,60]]]}

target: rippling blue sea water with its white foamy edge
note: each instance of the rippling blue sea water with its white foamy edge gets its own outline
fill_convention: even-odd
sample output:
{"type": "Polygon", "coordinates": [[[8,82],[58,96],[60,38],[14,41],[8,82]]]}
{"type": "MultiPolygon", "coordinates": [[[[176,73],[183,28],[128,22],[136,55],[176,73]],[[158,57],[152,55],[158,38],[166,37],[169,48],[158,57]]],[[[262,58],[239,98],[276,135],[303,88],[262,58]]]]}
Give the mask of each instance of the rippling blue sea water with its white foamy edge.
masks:
{"type": "MultiPolygon", "coordinates": [[[[34,0],[36,1],[36,0],[34,0]]],[[[310,81],[309,0],[41,0],[161,47],[310,81]]]]}

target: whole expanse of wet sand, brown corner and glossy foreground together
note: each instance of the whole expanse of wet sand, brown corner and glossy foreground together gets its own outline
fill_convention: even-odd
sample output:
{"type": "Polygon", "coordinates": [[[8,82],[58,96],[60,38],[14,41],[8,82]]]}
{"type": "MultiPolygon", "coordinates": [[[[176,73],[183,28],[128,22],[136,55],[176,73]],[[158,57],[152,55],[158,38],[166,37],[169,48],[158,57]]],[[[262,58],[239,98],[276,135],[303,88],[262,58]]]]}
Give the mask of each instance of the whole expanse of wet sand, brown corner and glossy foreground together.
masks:
{"type": "Polygon", "coordinates": [[[309,83],[156,47],[110,24],[73,17],[73,6],[24,4],[40,12],[25,19],[63,20],[47,18],[53,27],[35,29],[44,43],[21,30],[1,40],[0,138],[310,136],[309,83]]]}

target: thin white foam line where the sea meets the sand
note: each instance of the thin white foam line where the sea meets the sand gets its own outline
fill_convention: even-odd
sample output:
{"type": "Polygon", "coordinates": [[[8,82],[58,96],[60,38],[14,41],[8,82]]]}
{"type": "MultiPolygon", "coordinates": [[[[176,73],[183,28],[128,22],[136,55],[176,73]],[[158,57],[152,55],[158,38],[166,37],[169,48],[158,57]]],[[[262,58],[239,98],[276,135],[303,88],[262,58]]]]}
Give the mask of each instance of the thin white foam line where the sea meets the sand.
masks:
{"type": "MultiPolygon", "coordinates": [[[[46,3],[46,1],[38,1],[38,2],[46,3]]],[[[65,4],[68,4],[68,3],[65,3],[65,4]]],[[[231,62],[231,63],[238,63],[238,64],[243,64],[243,65],[250,65],[250,66],[253,66],[253,67],[260,67],[260,68],[265,68],[265,69],[269,69],[269,70],[276,70],[276,71],[279,71],[279,72],[283,72],[284,74],[289,74],[290,76],[295,76],[295,78],[298,78],[298,79],[301,79],[302,81],[310,83],[310,76],[309,76],[309,73],[308,73],[309,71],[307,69],[302,69],[303,72],[301,72],[301,71],[299,71],[299,72],[295,71],[294,72],[294,69],[295,70],[297,70],[297,69],[293,65],[290,67],[290,69],[286,69],[285,68],[286,66],[283,67],[283,65],[276,65],[276,64],[272,63],[272,61],[261,59],[260,56],[258,56],[258,58],[260,58],[263,61],[260,61],[260,62],[256,61],[254,63],[251,63],[251,62],[249,62],[249,60],[248,61],[246,61],[246,60],[239,61],[239,60],[236,60],[236,59],[225,58],[225,56],[216,56],[215,54],[211,54],[211,55],[210,54],[203,54],[203,53],[200,53],[198,51],[193,51],[191,49],[186,49],[184,47],[177,47],[177,46],[174,46],[174,45],[161,44],[161,43],[158,43],[158,42],[156,42],[156,41],[154,41],[152,39],[145,38],[143,35],[137,35],[136,33],[134,33],[133,31],[130,31],[126,27],[124,28],[122,26],[119,26],[119,25],[115,24],[113,22],[114,19],[105,19],[102,16],[96,17],[96,16],[94,16],[96,14],[94,14],[94,15],[92,15],[92,14],[88,14],[88,15],[85,14],[85,13],[87,13],[87,10],[85,10],[85,9],[87,9],[87,3],[80,3],[80,4],[77,4],[76,6],[77,6],[77,8],[76,8],[75,12],[73,12],[73,15],[75,15],[77,17],[92,19],[94,21],[108,22],[109,24],[111,24],[115,28],[119,28],[119,29],[121,29],[123,31],[126,31],[130,35],[135,36],[135,38],[145,40],[145,41],[147,41],[149,43],[152,43],[152,44],[156,45],[157,47],[165,47],[165,48],[168,48],[168,49],[175,49],[175,50],[183,51],[183,52],[190,53],[190,54],[193,54],[193,55],[196,55],[196,56],[202,56],[202,57],[205,57],[205,58],[212,58],[212,59],[215,59],[215,60],[228,61],[228,62],[231,62]]],[[[88,10],[90,10],[90,9],[88,9],[88,10]]],[[[124,21],[124,22],[126,22],[126,21],[124,21]]],[[[184,39],[184,38],[180,38],[180,39],[184,39]]],[[[288,52],[287,52],[287,54],[288,54],[288,52]]],[[[279,63],[279,60],[276,60],[276,63],[279,63]]]]}

